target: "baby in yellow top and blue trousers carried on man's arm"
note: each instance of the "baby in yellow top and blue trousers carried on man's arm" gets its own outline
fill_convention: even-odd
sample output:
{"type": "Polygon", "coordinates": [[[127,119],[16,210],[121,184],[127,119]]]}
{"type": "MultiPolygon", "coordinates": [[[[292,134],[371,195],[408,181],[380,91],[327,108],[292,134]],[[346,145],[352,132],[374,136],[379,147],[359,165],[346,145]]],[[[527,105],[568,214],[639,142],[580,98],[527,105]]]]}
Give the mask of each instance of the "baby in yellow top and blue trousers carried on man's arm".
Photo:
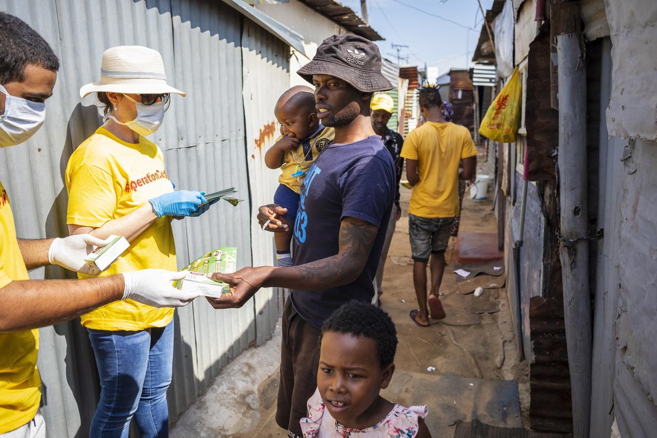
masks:
{"type": "Polygon", "coordinates": [[[267,150],[265,164],[269,169],[281,169],[274,203],[287,209],[279,219],[287,225],[287,230],[275,234],[274,242],[276,264],[286,267],[293,265],[290,241],[301,198],[301,185],[319,152],[333,141],[335,130],[320,123],[314,91],[304,85],[285,91],[276,102],[274,115],[281,125],[281,137],[267,150]]]}

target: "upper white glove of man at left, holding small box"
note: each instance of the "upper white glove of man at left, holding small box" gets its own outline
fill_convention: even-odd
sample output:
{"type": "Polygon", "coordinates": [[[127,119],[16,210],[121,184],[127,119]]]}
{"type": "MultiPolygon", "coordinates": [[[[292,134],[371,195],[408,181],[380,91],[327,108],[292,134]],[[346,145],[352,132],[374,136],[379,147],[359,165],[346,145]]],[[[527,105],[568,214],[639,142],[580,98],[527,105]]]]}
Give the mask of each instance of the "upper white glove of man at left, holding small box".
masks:
{"type": "Polygon", "coordinates": [[[84,259],[94,250],[94,246],[105,246],[110,239],[102,240],[91,234],[75,234],[64,238],[56,238],[48,250],[48,261],[51,265],[60,265],[69,271],[97,275],[98,269],[93,269],[84,259]]]}

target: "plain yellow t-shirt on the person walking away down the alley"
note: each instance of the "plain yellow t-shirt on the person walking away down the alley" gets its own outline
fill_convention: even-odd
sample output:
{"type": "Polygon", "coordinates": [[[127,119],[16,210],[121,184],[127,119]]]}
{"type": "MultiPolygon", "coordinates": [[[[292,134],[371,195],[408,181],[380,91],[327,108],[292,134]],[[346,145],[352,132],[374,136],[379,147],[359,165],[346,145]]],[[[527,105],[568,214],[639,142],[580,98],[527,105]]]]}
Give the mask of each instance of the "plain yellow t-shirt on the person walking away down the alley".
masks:
{"type": "Polygon", "coordinates": [[[409,213],[420,217],[458,215],[459,163],[476,154],[470,131],[464,126],[427,121],[413,129],[401,148],[403,158],[417,160],[420,175],[409,213]]]}

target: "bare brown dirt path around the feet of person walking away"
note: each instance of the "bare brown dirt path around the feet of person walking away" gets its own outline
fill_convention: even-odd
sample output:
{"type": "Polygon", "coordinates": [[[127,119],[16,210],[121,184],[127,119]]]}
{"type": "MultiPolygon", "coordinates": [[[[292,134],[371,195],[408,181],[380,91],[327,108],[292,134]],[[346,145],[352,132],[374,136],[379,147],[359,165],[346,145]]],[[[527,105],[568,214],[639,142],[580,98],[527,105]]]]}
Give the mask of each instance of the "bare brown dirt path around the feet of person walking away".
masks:
{"type": "MultiPolygon", "coordinates": [[[[496,232],[497,222],[491,194],[489,193],[489,198],[485,201],[470,200],[468,194],[469,190],[466,191],[463,201],[459,232],[496,232]]],[[[383,281],[384,294],[381,298],[382,308],[391,315],[397,326],[397,369],[417,372],[424,376],[455,375],[489,380],[516,380],[524,417],[523,424],[528,424],[528,366],[526,362],[519,361],[509,301],[504,288],[491,290],[497,299],[499,311],[480,315],[478,324],[467,324],[467,320],[458,325],[453,322],[445,324],[434,321],[430,328],[422,328],[414,324],[409,317],[409,312],[418,306],[413,289],[413,260],[408,236],[410,196],[411,190],[401,188],[403,214],[397,222],[388,252],[383,281]],[[428,372],[428,366],[434,366],[436,370],[428,372]]],[[[456,251],[455,238],[451,238],[445,252],[447,267],[440,288],[445,296],[459,292],[457,275],[453,273],[456,251]]],[[[500,267],[504,266],[503,260],[499,263],[500,267]]],[[[442,299],[445,301],[444,297],[442,299]]]]}

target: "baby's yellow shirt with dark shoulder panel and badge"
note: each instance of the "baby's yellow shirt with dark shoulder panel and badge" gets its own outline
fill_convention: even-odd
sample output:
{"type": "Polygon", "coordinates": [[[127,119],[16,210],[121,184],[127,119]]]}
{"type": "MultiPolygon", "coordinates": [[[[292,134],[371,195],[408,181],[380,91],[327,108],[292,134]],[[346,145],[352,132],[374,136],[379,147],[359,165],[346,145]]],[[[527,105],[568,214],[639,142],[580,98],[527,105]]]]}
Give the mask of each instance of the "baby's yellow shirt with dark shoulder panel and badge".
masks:
{"type": "MultiPolygon", "coordinates": [[[[305,174],[317,159],[319,152],[322,152],[328,146],[328,143],[333,141],[334,137],[335,130],[333,128],[322,127],[313,137],[302,142],[298,148],[285,152],[285,162],[281,166],[279,183],[301,194],[301,185],[304,182],[304,177],[297,178],[292,176],[297,171],[297,165],[301,166],[301,171],[305,174]]],[[[281,137],[276,141],[280,139],[281,137]]]]}

